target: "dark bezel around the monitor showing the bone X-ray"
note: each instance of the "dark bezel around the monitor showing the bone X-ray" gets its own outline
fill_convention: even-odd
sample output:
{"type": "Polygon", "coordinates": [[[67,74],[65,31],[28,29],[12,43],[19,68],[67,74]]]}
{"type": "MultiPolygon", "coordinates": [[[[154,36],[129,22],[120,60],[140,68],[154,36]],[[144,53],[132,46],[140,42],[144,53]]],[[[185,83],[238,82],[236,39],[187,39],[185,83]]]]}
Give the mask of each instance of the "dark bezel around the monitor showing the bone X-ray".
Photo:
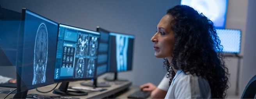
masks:
{"type": "MultiPolygon", "coordinates": [[[[135,35],[132,35],[132,34],[124,34],[124,33],[120,33],[120,32],[110,32],[110,33],[114,33],[114,34],[123,34],[123,35],[130,35],[130,36],[133,36],[133,46],[132,46],[132,67],[131,67],[131,70],[126,70],[126,71],[107,71],[107,72],[128,72],[128,71],[132,71],[133,69],[133,58],[134,58],[134,46],[135,46],[135,35]]],[[[110,35],[111,36],[111,35],[110,35]]],[[[109,36],[109,37],[110,37],[109,36]]],[[[110,40],[110,39],[109,39],[110,40]]],[[[109,45],[110,45],[110,42],[108,42],[109,45]]],[[[110,57],[110,47],[108,47],[108,58],[110,57]]],[[[110,66],[110,62],[108,63],[109,66],[110,66]]]]}

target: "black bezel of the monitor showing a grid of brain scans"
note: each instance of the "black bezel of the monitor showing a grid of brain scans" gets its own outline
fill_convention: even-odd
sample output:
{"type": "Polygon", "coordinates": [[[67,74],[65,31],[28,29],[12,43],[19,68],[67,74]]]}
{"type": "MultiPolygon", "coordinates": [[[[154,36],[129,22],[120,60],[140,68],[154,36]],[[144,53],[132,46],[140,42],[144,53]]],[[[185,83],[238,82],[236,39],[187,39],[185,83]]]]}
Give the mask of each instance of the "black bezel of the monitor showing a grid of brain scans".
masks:
{"type": "MultiPolygon", "coordinates": [[[[62,24],[62,23],[59,23],[59,25],[58,25],[58,27],[60,28],[60,25],[66,25],[66,24],[62,24]]],[[[66,26],[69,26],[69,27],[74,27],[74,26],[70,26],[70,25],[66,25],[66,26]]],[[[59,28],[58,28],[58,35],[59,35],[59,28]]],[[[74,27],[74,28],[79,28],[79,27],[74,27]]],[[[84,28],[79,28],[79,29],[82,29],[82,30],[88,30],[88,29],[84,29],[84,28]]],[[[93,30],[89,30],[89,31],[92,31],[92,32],[96,32],[96,31],[93,31],[93,30]]],[[[100,35],[101,35],[101,33],[100,32],[98,32],[100,35]]],[[[99,35],[99,36],[100,36],[99,35]]],[[[59,36],[58,36],[58,38],[57,38],[57,40],[59,39],[59,36]]],[[[99,41],[100,41],[100,39],[98,39],[99,41]]],[[[98,43],[98,46],[99,46],[99,44],[100,43],[98,43]]],[[[99,48],[97,49],[97,50],[99,50],[99,48]]],[[[57,50],[56,50],[57,51],[57,50]]],[[[98,53],[97,53],[97,56],[98,56],[98,53]]],[[[98,62],[98,59],[97,59],[97,62],[98,62]]],[[[54,65],[55,66],[55,65],[54,65]]],[[[97,71],[97,65],[96,65],[96,68],[95,68],[95,70],[94,71],[97,71]]],[[[54,72],[54,74],[55,74],[55,72],[54,72]]],[[[96,72],[94,72],[94,75],[96,76],[96,72]]],[[[54,79],[54,83],[59,83],[59,82],[70,82],[70,81],[81,81],[81,80],[92,80],[92,79],[94,79],[95,78],[95,76],[94,77],[92,77],[92,78],[69,78],[69,79],[54,79]]]]}

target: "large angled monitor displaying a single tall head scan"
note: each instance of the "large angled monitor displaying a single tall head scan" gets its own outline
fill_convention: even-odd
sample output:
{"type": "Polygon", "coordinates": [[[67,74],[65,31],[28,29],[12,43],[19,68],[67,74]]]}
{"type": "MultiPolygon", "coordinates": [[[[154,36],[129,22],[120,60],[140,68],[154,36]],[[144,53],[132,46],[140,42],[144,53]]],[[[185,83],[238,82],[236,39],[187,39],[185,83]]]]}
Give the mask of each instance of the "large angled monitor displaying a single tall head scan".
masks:
{"type": "Polygon", "coordinates": [[[29,89],[54,83],[58,23],[22,9],[17,52],[17,93],[26,98],[29,89]]]}

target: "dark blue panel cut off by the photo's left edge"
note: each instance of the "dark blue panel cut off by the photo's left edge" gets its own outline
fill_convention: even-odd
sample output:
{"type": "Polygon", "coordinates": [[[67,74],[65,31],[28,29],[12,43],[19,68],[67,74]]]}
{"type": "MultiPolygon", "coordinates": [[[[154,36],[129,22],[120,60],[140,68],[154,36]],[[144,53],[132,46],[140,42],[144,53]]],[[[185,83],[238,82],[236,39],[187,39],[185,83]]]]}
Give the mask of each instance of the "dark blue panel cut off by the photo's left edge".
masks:
{"type": "Polygon", "coordinates": [[[0,66],[16,66],[17,38],[20,21],[20,12],[0,6],[0,66]]]}

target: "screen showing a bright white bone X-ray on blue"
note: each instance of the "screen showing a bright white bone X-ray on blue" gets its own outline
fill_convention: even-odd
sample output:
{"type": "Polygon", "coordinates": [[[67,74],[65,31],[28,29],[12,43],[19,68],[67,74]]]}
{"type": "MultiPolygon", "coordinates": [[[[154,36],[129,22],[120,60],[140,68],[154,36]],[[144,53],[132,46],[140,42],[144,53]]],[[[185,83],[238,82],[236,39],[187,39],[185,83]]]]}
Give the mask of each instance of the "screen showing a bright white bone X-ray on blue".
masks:
{"type": "Polygon", "coordinates": [[[133,35],[110,33],[108,72],[132,70],[133,42],[133,35]]]}

